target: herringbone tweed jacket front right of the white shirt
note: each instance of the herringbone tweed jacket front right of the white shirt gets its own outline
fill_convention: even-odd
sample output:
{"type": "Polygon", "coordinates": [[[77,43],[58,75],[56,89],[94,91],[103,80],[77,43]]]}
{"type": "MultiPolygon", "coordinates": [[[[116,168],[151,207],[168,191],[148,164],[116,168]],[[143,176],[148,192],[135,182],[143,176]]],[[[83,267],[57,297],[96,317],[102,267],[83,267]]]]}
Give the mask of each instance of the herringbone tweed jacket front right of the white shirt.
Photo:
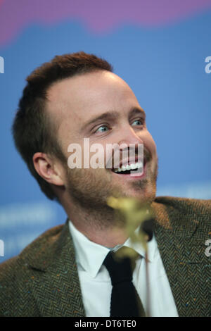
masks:
{"type": "MultiPolygon", "coordinates": [[[[165,200],[165,198],[163,198],[165,200]]],[[[193,208],[153,203],[154,232],[179,316],[208,316],[209,290],[203,273],[205,243],[193,208]]],[[[164,204],[165,202],[165,204],[164,204]]]]}

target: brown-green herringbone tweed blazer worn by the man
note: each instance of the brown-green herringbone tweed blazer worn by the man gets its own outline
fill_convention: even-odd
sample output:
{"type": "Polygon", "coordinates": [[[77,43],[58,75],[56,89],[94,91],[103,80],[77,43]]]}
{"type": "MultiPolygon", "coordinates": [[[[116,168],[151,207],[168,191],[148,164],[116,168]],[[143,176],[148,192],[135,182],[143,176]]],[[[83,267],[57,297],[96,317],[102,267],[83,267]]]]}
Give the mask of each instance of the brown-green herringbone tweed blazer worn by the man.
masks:
{"type": "MultiPolygon", "coordinates": [[[[153,208],[154,233],[179,316],[211,316],[211,256],[205,254],[211,200],[160,196],[153,208]]],[[[1,263],[0,316],[85,316],[68,222],[1,263]]]]}

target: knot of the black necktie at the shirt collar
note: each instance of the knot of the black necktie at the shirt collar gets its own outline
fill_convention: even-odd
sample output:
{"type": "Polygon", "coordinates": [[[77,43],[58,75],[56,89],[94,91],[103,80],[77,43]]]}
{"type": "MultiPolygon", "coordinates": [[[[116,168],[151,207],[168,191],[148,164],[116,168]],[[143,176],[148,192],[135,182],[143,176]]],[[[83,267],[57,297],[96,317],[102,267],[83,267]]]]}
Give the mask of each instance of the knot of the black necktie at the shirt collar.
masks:
{"type": "Polygon", "coordinates": [[[103,261],[110,275],[112,285],[131,282],[135,260],[139,256],[134,249],[123,246],[116,252],[110,251],[103,261]]]}

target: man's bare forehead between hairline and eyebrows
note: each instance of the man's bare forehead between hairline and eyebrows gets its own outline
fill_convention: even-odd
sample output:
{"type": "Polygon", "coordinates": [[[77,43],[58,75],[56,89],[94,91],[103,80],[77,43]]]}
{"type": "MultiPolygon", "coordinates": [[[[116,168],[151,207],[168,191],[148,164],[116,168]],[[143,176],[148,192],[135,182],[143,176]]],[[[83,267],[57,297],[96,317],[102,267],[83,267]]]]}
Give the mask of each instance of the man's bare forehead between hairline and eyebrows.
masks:
{"type": "Polygon", "coordinates": [[[85,122],[105,111],[139,106],[132,89],[114,73],[98,71],[66,78],[54,83],[47,94],[46,111],[61,125],[85,122]]]}

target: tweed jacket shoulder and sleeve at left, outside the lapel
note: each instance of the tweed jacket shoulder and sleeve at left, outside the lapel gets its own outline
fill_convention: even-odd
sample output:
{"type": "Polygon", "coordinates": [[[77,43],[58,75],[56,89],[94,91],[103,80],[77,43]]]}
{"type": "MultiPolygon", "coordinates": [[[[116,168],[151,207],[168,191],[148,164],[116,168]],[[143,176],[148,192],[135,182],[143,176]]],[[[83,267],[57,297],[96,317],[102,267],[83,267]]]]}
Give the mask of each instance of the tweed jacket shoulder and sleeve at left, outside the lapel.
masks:
{"type": "Polygon", "coordinates": [[[30,261],[46,260],[63,229],[52,227],[13,258],[0,264],[0,316],[40,316],[34,298],[30,295],[32,269],[30,261]],[[45,260],[45,259],[44,259],[45,260]]]}

